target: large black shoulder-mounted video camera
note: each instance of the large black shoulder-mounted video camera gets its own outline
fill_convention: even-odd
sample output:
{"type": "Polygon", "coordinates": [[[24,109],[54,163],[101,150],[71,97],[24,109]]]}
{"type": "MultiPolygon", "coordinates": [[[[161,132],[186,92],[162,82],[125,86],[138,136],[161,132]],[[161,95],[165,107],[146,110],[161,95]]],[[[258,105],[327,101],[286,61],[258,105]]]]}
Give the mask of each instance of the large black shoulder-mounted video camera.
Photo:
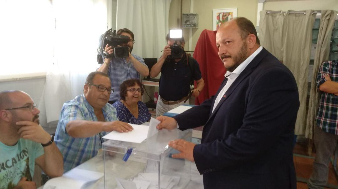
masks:
{"type": "Polygon", "coordinates": [[[99,47],[97,49],[97,62],[103,63],[102,55],[104,58],[127,58],[129,56],[129,49],[126,45],[130,41],[128,36],[116,35],[116,30],[108,30],[100,37],[99,47]],[[105,45],[108,44],[114,49],[113,54],[108,54],[104,51],[105,45]],[[119,45],[119,46],[118,46],[119,45]]]}

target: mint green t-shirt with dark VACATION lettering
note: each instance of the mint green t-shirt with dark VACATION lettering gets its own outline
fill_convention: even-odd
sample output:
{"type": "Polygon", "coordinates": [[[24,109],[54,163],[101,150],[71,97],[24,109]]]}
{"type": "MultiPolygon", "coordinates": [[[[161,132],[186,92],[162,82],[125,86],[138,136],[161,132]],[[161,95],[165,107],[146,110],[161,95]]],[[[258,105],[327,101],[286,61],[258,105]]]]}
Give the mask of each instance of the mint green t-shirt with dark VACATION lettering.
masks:
{"type": "Polygon", "coordinates": [[[22,177],[34,175],[35,158],[44,154],[39,143],[20,138],[14,146],[0,142],[0,189],[14,188],[22,177]]]}

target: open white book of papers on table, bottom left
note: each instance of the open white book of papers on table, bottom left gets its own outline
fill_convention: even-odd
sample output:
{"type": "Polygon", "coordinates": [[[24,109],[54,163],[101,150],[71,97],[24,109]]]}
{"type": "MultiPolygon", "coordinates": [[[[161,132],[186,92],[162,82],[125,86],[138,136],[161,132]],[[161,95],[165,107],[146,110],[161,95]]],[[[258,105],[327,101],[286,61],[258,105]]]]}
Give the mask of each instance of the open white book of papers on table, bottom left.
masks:
{"type": "Polygon", "coordinates": [[[48,180],[43,189],[84,189],[102,177],[102,172],[73,168],[62,177],[48,180]]]}

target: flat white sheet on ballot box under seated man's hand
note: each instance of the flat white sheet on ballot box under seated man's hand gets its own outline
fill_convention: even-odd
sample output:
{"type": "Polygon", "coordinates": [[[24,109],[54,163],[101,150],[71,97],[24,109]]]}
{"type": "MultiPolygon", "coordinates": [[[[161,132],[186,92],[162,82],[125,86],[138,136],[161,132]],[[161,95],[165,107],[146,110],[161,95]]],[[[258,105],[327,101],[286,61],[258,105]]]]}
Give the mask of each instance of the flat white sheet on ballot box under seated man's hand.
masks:
{"type": "Polygon", "coordinates": [[[147,138],[149,126],[147,125],[136,125],[131,124],[134,130],[129,132],[117,132],[112,131],[108,133],[107,135],[104,135],[102,138],[108,139],[108,140],[119,140],[119,141],[126,141],[131,143],[142,143],[143,140],[147,138]]]}

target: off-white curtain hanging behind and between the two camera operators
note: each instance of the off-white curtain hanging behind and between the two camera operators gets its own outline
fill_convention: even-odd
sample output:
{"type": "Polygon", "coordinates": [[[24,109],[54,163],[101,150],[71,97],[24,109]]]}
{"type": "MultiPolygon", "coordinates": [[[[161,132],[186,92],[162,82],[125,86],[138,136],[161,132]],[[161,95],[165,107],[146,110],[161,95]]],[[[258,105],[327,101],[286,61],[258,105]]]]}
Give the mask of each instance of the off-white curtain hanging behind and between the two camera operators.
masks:
{"type": "Polygon", "coordinates": [[[159,58],[167,44],[171,0],[118,0],[116,29],[128,28],[135,35],[133,54],[159,58]]]}

